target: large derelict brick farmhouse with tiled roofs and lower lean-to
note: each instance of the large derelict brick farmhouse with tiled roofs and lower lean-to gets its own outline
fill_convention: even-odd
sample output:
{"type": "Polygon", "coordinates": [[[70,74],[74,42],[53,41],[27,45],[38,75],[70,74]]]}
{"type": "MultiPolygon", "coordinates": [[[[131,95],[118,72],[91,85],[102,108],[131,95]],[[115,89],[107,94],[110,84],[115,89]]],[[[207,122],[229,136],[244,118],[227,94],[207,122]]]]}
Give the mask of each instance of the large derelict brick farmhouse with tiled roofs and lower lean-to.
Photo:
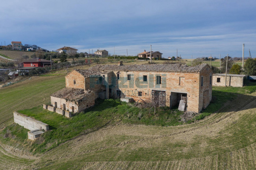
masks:
{"type": "Polygon", "coordinates": [[[96,98],[132,98],[179,105],[186,100],[186,111],[199,113],[211,101],[212,70],[207,64],[187,65],[96,65],[75,69],[66,78],[66,88],[51,95],[54,107],[80,112],[95,104],[96,98]]]}

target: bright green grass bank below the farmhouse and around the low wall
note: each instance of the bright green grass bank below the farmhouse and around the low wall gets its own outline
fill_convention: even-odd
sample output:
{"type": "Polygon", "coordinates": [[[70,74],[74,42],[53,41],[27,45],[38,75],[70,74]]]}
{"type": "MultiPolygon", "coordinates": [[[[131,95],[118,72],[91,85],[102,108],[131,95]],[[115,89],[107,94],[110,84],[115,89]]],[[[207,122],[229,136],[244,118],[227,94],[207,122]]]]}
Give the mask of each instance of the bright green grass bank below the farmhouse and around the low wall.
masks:
{"type": "MultiPolygon", "coordinates": [[[[122,121],[129,124],[157,126],[175,126],[183,123],[180,121],[182,112],[177,109],[169,110],[168,107],[161,107],[158,108],[157,114],[154,115],[153,110],[149,113],[148,109],[141,109],[114,99],[98,100],[95,107],[70,119],[44,110],[41,106],[18,112],[50,126],[51,131],[45,132],[42,136],[44,138],[43,142],[37,140],[32,144],[31,151],[33,153],[44,153],[69,139],[95,131],[109,123],[115,124],[115,122],[122,121]]],[[[11,141],[13,144],[22,144],[24,142],[23,144],[25,144],[27,141],[24,139],[26,138],[27,131],[16,124],[11,124],[0,132],[0,139],[4,142],[11,141]],[[9,131],[11,135],[6,135],[9,131]],[[15,140],[12,140],[13,137],[15,140]]]]}

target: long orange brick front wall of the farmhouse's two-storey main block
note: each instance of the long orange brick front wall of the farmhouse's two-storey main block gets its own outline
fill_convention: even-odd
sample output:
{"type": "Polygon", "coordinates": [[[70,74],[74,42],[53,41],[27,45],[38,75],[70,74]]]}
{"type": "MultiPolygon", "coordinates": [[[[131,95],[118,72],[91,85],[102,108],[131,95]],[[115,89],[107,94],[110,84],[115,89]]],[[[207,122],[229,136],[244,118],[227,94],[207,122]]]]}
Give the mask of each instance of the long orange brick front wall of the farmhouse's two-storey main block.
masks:
{"type": "MultiPolygon", "coordinates": [[[[113,85],[112,93],[117,95],[117,90],[121,90],[122,97],[132,97],[135,101],[142,98],[151,101],[152,90],[166,92],[166,106],[170,106],[171,92],[187,94],[187,110],[200,112],[199,107],[199,91],[210,88],[209,97],[211,99],[211,87],[205,86],[200,89],[200,74],[194,73],[160,73],[160,72],[119,72],[120,79],[117,80],[117,72],[113,72],[115,85],[113,85]],[[127,80],[127,75],[131,75],[131,80],[127,80]],[[147,76],[147,82],[143,81],[143,76],[147,76]],[[156,84],[156,76],[161,76],[161,84],[156,84]],[[181,80],[181,82],[180,82],[181,80]],[[142,96],[138,96],[138,92],[142,92],[142,96]]],[[[211,70],[206,72],[204,76],[209,76],[211,70]]],[[[210,79],[210,76],[208,80],[210,79]]],[[[204,81],[208,81],[207,78],[204,81]]],[[[108,89],[107,91],[108,92],[108,89]]],[[[106,96],[108,96],[106,94],[106,96]]],[[[202,96],[201,96],[202,97],[202,96]]]]}

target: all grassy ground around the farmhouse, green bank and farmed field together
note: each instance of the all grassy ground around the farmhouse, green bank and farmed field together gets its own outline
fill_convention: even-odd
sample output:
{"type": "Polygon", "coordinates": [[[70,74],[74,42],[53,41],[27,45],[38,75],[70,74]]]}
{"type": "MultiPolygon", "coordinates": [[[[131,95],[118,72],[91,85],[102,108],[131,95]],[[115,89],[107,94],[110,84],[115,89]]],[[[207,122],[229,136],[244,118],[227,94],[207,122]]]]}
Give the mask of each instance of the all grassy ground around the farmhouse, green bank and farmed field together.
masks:
{"type": "Polygon", "coordinates": [[[214,87],[210,111],[204,110],[204,119],[195,119],[191,124],[166,127],[154,116],[152,120],[160,124],[147,123],[148,119],[143,122],[145,115],[139,119],[136,108],[133,110],[115,100],[111,101],[117,103],[113,110],[103,103],[101,110],[91,108],[68,122],[67,118],[35,107],[50,102],[50,94],[65,86],[65,74],[66,70],[60,70],[49,76],[33,76],[0,89],[0,159],[3,160],[0,169],[255,169],[254,84],[243,88],[214,87]],[[115,115],[119,110],[123,113],[122,109],[127,115],[115,115]],[[42,111],[42,120],[56,126],[50,132],[53,136],[48,138],[48,145],[41,140],[25,142],[25,146],[18,143],[15,147],[7,146],[8,141],[27,140],[26,131],[12,123],[15,110],[31,115],[42,111]],[[211,114],[214,111],[217,113],[211,114]],[[105,114],[101,116],[100,112],[105,114]],[[58,121],[50,122],[54,117],[58,121]],[[81,119],[77,124],[72,123],[78,118],[81,119]],[[5,126],[9,130],[4,130],[5,126]],[[72,131],[68,131],[70,129],[72,131]],[[8,140],[9,137],[12,139],[8,140]],[[30,147],[32,150],[26,149],[30,147]],[[46,152],[39,153],[40,149],[46,152]]]}

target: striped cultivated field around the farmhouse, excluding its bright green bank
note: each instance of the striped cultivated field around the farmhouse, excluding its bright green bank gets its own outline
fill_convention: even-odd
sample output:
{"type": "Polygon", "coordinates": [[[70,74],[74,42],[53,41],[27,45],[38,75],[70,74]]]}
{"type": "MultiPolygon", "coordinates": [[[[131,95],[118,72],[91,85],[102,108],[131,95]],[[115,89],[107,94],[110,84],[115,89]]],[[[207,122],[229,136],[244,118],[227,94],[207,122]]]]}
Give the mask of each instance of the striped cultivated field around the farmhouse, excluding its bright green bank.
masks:
{"type": "MultiPolygon", "coordinates": [[[[127,64],[134,63],[140,61],[127,64]]],[[[0,130],[12,124],[13,111],[50,102],[50,94],[65,87],[66,74],[61,70],[33,76],[0,89],[0,130]]],[[[249,87],[213,89],[236,93],[249,87]]],[[[218,113],[191,124],[161,127],[116,122],[35,157],[28,157],[30,152],[21,146],[7,150],[0,146],[4,160],[0,169],[255,169],[255,96],[255,92],[238,95],[218,113]]]]}

